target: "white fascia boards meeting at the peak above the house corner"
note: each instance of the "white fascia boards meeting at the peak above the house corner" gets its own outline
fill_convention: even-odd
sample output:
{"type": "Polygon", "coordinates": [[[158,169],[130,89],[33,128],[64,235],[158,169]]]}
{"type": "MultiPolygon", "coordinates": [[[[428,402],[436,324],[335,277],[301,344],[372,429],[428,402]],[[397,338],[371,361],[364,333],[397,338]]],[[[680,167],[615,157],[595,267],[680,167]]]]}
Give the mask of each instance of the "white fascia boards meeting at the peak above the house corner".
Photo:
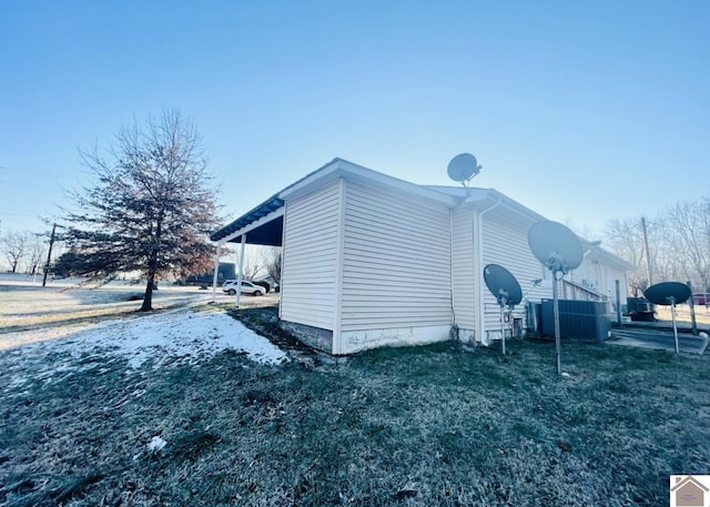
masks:
{"type": "Polygon", "coordinates": [[[447,193],[388,176],[342,159],[336,159],[331,164],[316,171],[303,181],[285,189],[278,194],[278,197],[284,201],[294,199],[338,178],[344,178],[348,181],[355,181],[377,189],[387,189],[409,196],[426,199],[452,207],[456,206],[460,202],[460,199],[447,193]]]}

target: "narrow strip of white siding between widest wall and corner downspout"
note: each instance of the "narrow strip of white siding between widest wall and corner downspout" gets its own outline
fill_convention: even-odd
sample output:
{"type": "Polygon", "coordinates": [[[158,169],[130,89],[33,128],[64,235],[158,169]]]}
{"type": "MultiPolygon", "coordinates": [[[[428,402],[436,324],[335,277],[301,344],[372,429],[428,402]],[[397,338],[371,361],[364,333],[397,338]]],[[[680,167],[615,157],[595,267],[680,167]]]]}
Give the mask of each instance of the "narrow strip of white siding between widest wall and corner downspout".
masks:
{"type": "Polygon", "coordinates": [[[457,209],[453,212],[454,225],[454,262],[453,291],[454,318],[459,328],[475,329],[477,327],[476,291],[479,276],[477,271],[477,243],[474,235],[476,213],[470,209],[457,209]]]}

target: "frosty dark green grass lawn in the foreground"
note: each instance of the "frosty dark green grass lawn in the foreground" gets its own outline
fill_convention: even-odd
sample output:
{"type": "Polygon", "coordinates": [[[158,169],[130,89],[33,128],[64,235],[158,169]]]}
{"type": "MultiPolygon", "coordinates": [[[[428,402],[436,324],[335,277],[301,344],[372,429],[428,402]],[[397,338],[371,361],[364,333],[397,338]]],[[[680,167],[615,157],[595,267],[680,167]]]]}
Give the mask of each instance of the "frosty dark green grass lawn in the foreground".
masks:
{"type": "Polygon", "coordinates": [[[570,343],[564,377],[549,342],[336,362],[274,312],[240,317],[291,347],[278,366],[108,355],[17,384],[0,353],[0,505],[657,506],[670,474],[708,473],[706,356],[570,343]]]}

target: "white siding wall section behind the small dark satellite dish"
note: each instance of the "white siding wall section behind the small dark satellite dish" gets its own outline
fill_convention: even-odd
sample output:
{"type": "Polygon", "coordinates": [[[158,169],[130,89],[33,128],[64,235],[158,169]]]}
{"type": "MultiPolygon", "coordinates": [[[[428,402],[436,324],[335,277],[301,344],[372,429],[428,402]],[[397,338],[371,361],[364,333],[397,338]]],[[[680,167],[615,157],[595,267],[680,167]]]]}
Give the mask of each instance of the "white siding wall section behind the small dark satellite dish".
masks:
{"type": "MultiPolygon", "coordinates": [[[[508,270],[520,284],[523,294],[529,300],[540,300],[541,297],[552,296],[551,284],[542,284],[532,288],[532,281],[544,277],[544,267],[540,262],[535,258],[530,247],[528,246],[528,231],[531,223],[513,223],[501,221],[494,216],[484,217],[484,262],[483,267],[487,264],[498,264],[508,270]],[[529,291],[529,292],[528,292],[529,291]]],[[[479,274],[483,282],[483,270],[479,274]]],[[[525,316],[525,302],[521,302],[514,310],[514,317],[523,318],[525,316]]],[[[484,332],[500,334],[500,306],[496,303],[496,298],[484,288],[484,332]]]]}

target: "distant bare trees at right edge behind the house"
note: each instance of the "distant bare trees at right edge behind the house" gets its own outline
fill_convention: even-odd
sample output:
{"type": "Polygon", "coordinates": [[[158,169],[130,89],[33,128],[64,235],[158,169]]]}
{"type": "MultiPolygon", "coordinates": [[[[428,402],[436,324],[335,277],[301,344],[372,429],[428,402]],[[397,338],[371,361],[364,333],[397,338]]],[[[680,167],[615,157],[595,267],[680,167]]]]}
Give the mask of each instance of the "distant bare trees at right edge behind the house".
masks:
{"type": "Polygon", "coordinates": [[[642,219],[618,219],[607,223],[604,246],[632,264],[629,288],[640,294],[649,284],[690,282],[693,292],[710,292],[710,199],[679,202],[646,219],[648,252],[642,219]],[[650,270],[647,262],[650,261],[650,270]]]}

